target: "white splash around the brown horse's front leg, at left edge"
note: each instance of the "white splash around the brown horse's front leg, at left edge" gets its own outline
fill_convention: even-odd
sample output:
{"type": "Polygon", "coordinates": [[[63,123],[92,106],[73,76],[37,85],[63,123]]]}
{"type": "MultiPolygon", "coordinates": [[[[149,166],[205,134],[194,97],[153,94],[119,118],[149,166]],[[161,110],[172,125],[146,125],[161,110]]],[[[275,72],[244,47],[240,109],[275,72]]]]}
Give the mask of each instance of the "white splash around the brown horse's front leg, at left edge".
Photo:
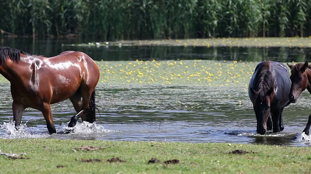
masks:
{"type": "Polygon", "coordinates": [[[14,122],[0,123],[0,138],[3,139],[16,139],[16,138],[45,138],[48,135],[38,134],[29,131],[26,123],[21,124],[19,129],[15,129],[14,122]]]}

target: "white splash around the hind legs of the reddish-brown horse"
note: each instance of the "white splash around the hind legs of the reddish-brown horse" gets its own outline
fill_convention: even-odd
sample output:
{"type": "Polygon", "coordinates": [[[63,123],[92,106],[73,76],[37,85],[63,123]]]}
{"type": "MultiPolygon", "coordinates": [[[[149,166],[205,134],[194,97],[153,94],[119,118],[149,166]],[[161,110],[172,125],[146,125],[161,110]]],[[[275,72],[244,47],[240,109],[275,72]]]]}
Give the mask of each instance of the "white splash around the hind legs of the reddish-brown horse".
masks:
{"type": "Polygon", "coordinates": [[[103,135],[103,133],[105,134],[105,133],[112,132],[112,130],[104,129],[104,126],[96,125],[96,123],[89,123],[86,121],[82,123],[77,122],[77,124],[73,128],[69,128],[65,124],[63,124],[62,126],[63,126],[62,129],[64,132],[69,131],[70,133],[81,134],[81,135],[94,134],[94,133],[95,134],[101,133],[101,135],[103,135]]]}

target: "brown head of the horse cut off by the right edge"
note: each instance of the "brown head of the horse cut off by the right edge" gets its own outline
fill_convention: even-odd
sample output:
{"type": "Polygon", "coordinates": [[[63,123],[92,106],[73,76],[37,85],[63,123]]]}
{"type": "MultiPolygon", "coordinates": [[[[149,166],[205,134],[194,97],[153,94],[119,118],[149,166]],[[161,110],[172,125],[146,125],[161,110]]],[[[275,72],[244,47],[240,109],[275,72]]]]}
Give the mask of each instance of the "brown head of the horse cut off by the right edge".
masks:
{"type": "Polygon", "coordinates": [[[299,95],[308,86],[307,70],[309,67],[308,62],[298,63],[295,65],[287,64],[291,69],[290,79],[292,81],[291,91],[288,95],[290,102],[296,102],[299,95]]]}

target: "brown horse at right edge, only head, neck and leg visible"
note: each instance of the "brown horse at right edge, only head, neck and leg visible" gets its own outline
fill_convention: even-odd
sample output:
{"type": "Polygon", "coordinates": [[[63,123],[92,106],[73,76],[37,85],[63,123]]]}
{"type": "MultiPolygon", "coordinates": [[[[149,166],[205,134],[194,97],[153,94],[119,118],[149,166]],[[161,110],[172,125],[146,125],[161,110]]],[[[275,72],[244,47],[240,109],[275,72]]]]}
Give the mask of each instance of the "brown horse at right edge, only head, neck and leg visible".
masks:
{"type": "MultiPolygon", "coordinates": [[[[291,102],[296,102],[302,91],[307,89],[311,93],[311,67],[306,61],[305,63],[297,63],[295,65],[287,64],[291,68],[292,87],[288,96],[291,102]]],[[[306,128],[303,130],[309,135],[311,126],[311,115],[309,116],[306,128]]]]}

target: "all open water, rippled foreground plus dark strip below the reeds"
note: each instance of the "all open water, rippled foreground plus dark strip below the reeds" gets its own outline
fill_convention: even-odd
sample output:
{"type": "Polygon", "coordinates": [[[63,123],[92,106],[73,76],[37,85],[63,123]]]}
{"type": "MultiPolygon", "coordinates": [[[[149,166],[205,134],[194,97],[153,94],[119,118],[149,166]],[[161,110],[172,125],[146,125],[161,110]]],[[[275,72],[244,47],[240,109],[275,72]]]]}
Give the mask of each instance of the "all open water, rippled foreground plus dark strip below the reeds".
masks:
{"type": "MultiPolygon", "coordinates": [[[[66,46],[81,41],[37,41],[2,39],[31,54],[54,56],[65,50],[79,50],[97,60],[213,59],[282,62],[305,61],[309,49],[289,48],[196,48],[196,47],[94,47],[66,46]],[[65,45],[64,45],[65,44],[65,45]]],[[[59,138],[125,141],[226,142],[246,144],[310,146],[311,137],[302,134],[311,114],[310,94],[303,92],[297,103],[284,109],[285,130],[279,134],[256,134],[256,117],[245,87],[202,86],[105,86],[97,87],[99,106],[94,124],[81,123],[64,134],[75,114],[69,101],[52,105],[57,134],[49,135],[42,114],[27,109],[22,127],[12,123],[9,83],[0,84],[0,138],[59,138]],[[156,96],[156,97],[155,97],[156,96]],[[230,97],[228,97],[230,96],[230,97]],[[237,102],[239,101],[239,102],[237,102]]]]}

